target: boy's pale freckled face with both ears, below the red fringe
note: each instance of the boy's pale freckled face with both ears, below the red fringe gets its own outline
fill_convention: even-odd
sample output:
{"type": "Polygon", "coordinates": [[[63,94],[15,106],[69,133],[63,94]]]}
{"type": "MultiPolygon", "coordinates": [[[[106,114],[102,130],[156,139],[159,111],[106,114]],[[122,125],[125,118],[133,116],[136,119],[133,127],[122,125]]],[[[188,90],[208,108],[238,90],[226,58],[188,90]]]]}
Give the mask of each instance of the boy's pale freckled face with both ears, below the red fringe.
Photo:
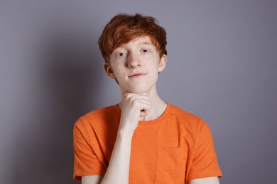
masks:
{"type": "Polygon", "coordinates": [[[148,36],[117,47],[104,64],[108,76],[117,79],[123,93],[147,93],[156,88],[158,72],[165,69],[166,56],[159,52],[148,36]]]}

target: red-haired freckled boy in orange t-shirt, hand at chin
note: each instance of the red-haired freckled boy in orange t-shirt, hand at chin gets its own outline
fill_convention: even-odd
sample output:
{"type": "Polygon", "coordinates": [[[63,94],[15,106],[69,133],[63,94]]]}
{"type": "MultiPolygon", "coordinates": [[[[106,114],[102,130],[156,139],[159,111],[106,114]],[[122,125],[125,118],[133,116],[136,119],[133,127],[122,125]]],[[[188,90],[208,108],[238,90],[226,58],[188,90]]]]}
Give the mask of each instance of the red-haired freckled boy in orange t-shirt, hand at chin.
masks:
{"type": "Polygon", "coordinates": [[[156,19],[118,14],[98,43],[121,102],[75,123],[74,178],[82,184],[219,183],[207,124],[158,96],[167,52],[166,33],[156,19]]]}

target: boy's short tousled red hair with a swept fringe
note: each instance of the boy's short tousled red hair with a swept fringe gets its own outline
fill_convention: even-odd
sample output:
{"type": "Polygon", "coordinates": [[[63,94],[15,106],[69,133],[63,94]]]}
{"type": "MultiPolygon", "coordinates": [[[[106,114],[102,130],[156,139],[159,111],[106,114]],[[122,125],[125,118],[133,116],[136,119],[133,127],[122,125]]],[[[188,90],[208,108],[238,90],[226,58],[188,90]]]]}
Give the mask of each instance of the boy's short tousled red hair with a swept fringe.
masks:
{"type": "Polygon", "coordinates": [[[167,54],[165,49],[166,32],[156,18],[142,16],[139,13],[134,16],[125,13],[114,16],[104,27],[98,40],[99,49],[105,62],[109,63],[109,57],[117,47],[141,36],[150,37],[160,57],[167,54]]]}

